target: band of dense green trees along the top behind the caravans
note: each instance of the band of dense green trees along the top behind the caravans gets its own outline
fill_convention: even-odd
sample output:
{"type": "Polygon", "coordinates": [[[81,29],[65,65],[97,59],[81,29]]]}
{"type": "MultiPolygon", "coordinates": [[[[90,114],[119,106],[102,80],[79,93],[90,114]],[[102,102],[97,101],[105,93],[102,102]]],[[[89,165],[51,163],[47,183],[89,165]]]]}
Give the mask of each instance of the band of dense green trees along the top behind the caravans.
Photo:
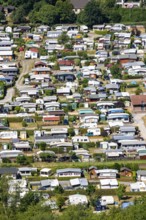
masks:
{"type": "Polygon", "coordinates": [[[145,22],[146,7],[121,8],[115,0],[91,0],[79,14],[73,11],[69,0],[1,0],[0,20],[5,19],[2,7],[14,7],[10,15],[13,24],[80,23],[89,27],[102,23],[145,22]]]}

